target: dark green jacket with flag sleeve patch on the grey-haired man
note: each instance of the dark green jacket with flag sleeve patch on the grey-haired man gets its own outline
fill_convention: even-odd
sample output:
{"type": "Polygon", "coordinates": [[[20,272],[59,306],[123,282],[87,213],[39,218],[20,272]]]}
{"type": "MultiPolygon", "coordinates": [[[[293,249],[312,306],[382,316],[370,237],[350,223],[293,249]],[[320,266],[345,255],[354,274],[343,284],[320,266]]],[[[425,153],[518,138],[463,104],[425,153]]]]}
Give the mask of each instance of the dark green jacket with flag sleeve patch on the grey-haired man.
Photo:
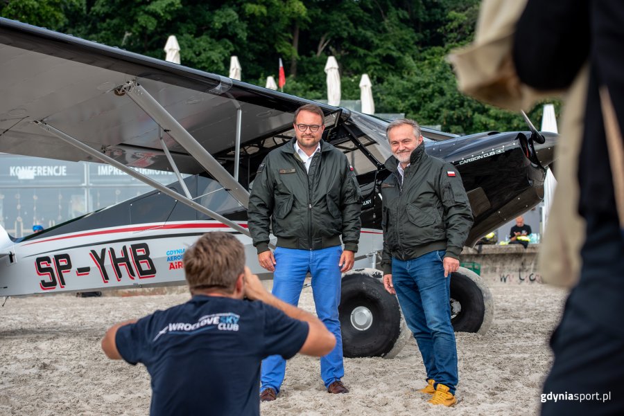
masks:
{"type": "Polygon", "coordinates": [[[424,142],[410,156],[401,184],[395,156],[385,161],[390,176],[381,183],[383,274],[392,273],[392,257],[411,260],[434,250],[458,259],[473,218],[457,169],[428,156],[424,142]]]}

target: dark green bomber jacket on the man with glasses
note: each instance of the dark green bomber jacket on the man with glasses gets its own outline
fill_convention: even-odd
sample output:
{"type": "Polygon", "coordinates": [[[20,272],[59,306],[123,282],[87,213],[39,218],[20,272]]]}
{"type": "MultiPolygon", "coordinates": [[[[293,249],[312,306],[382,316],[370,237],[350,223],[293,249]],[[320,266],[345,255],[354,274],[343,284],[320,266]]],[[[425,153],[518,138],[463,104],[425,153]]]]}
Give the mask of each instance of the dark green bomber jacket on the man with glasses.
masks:
{"type": "Polygon", "coordinates": [[[269,229],[277,246],[318,250],[340,245],[358,251],[362,197],[347,156],[321,141],[310,170],[295,141],[272,150],[258,168],[248,206],[248,225],[258,253],[268,251],[269,229]]]}

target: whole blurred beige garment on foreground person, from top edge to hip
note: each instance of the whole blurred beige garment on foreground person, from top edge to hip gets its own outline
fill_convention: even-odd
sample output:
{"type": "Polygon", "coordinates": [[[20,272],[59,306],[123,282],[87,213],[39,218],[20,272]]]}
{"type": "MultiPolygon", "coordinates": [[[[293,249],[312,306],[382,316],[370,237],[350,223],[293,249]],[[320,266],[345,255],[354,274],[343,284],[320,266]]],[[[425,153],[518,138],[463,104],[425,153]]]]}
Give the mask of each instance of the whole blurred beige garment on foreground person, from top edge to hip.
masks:
{"type": "Polygon", "coordinates": [[[530,109],[546,97],[565,101],[560,142],[555,151],[557,188],[542,239],[539,271],[544,282],[571,287],[580,274],[580,248],[584,220],[578,214],[578,155],[587,96],[587,68],[564,91],[536,91],[522,84],[516,74],[512,47],[516,22],[526,0],[484,0],[473,44],[453,51],[459,89],[469,96],[498,107],[530,109]]]}

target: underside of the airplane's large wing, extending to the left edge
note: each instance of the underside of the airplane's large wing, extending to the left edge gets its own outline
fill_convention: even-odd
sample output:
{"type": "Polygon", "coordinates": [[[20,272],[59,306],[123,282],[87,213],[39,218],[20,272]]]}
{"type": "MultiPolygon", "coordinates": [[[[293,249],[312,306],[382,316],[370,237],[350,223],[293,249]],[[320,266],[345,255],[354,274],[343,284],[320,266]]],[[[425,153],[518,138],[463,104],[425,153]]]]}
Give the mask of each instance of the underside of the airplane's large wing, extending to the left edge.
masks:
{"type": "MultiPolygon", "coordinates": [[[[98,161],[46,126],[132,168],[171,170],[166,143],[186,174],[208,169],[167,123],[178,123],[209,154],[227,155],[237,130],[243,147],[261,143],[292,129],[295,109],[311,103],[3,18],[0,73],[0,152],[98,161]],[[149,105],[140,101],[146,95],[149,105]]],[[[338,122],[338,107],[315,104],[326,123],[338,122]]]]}

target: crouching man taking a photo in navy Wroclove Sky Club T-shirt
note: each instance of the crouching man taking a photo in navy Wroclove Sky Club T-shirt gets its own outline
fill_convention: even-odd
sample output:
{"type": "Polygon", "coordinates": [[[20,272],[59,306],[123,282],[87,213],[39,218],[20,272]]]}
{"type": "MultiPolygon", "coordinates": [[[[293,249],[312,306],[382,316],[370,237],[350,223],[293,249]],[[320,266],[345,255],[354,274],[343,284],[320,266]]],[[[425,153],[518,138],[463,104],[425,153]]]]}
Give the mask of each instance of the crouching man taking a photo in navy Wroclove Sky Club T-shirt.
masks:
{"type": "Polygon", "coordinates": [[[264,357],[322,356],[336,345],[320,320],[264,289],[232,234],[203,235],[184,273],[191,300],[114,325],[102,340],[110,359],[146,366],[150,415],[259,415],[264,357]]]}

